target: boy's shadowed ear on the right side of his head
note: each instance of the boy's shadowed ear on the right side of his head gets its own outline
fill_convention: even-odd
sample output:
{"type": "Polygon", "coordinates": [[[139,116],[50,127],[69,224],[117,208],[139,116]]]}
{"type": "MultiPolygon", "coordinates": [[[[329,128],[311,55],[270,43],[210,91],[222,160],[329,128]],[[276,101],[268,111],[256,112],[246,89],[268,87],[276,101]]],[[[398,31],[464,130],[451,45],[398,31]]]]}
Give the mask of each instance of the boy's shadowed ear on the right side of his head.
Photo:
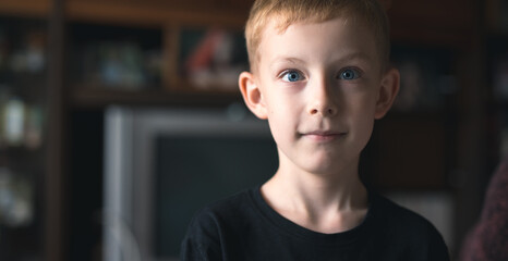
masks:
{"type": "Polygon", "coordinates": [[[390,110],[400,87],[400,74],[397,69],[390,69],[382,79],[379,94],[376,102],[376,120],[382,119],[390,110]]]}

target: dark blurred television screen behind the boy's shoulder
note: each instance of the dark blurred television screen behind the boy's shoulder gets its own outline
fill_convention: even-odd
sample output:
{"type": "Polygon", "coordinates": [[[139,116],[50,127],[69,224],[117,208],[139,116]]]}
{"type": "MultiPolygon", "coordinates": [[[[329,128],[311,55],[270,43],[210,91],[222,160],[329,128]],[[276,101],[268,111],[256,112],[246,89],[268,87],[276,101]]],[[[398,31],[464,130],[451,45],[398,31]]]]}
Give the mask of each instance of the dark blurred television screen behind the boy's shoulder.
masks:
{"type": "Polygon", "coordinates": [[[155,247],[178,257],[189,222],[204,206],[258,186],[277,169],[271,139],[164,135],[156,138],[155,247]]]}

